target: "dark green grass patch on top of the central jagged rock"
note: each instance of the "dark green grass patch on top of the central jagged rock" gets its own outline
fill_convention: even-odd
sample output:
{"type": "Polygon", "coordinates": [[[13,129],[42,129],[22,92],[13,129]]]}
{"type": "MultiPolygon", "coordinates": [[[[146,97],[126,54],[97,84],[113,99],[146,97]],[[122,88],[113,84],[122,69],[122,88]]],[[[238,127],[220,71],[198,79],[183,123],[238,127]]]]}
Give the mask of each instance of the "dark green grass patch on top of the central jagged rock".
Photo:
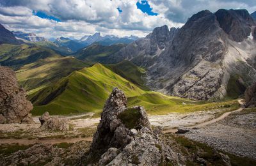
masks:
{"type": "Polygon", "coordinates": [[[140,119],[140,110],[135,108],[129,108],[118,114],[118,118],[121,119],[122,123],[129,128],[136,128],[138,120],[140,119]]]}

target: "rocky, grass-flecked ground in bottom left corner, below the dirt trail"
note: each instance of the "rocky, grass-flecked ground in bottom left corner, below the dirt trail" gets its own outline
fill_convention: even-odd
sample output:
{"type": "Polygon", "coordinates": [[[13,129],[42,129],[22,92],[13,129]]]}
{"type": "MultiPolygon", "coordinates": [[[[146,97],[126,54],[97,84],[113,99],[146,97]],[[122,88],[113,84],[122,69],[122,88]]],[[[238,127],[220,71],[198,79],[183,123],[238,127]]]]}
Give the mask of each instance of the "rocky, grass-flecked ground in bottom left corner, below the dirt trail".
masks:
{"type": "Polygon", "coordinates": [[[79,141],[65,145],[35,144],[10,156],[0,154],[0,165],[76,165],[88,151],[90,142],[79,141]]]}

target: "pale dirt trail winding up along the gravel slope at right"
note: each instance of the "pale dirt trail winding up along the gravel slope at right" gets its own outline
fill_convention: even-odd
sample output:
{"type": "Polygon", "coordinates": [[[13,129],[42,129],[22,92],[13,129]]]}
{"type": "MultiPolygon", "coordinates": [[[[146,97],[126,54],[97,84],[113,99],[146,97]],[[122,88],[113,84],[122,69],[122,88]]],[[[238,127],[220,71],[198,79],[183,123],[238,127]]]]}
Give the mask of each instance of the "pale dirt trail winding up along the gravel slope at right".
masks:
{"type": "MultiPolygon", "coordinates": [[[[217,121],[220,121],[220,120],[224,119],[225,117],[227,117],[231,113],[240,112],[241,110],[244,109],[244,103],[242,101],[243,101],[243,99],[237,100],[237,102],[241,105],[241,107],[239,109],[232,110],[230,112],[225,112],[224,114],[222,114],[221,116],[219,116],[217,118],[211,119],[210,121],[205,121],[205,122],[200,123],[200,124],[195,124],[193,126],[188,126],[188,128],[200,128],[200,127],[203,127],[203,126],[207,126],[208,124],[216,123],[217,121]]],[[[176,128],[170,128],[168,130],[164,130],[163,132],[164,133],[175,133],[177,131],[178,130],[176,128]]]]}

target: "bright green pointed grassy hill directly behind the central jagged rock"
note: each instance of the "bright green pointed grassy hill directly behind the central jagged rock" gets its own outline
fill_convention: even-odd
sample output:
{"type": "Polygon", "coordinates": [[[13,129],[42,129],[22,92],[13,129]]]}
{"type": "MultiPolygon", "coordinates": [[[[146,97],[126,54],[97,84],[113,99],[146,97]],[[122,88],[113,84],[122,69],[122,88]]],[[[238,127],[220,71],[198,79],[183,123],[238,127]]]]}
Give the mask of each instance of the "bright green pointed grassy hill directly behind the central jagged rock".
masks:
{"type": "Polygon", "coordinates": [[[113,87],[122,89],[130,97],[145,93],[136,85],[97,63],[91,68],[73,72],[57,84],[30,95],[29,98],[35,105],[32,113],[99,112],[113,87]]]}

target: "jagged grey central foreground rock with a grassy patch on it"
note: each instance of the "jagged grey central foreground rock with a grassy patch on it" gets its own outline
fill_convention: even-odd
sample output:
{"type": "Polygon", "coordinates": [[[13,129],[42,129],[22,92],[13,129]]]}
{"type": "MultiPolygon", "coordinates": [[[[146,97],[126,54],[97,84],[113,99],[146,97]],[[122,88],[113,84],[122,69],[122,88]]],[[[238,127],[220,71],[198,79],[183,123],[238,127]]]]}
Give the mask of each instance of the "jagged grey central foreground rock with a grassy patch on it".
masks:
{"type": "Polygon", "coordinates": [[[178,164],[178,156],[152,130],[143,107],[127,108],[124,92],[113,89],[104,105],[86,164],[159,165],[178,164]]]}

